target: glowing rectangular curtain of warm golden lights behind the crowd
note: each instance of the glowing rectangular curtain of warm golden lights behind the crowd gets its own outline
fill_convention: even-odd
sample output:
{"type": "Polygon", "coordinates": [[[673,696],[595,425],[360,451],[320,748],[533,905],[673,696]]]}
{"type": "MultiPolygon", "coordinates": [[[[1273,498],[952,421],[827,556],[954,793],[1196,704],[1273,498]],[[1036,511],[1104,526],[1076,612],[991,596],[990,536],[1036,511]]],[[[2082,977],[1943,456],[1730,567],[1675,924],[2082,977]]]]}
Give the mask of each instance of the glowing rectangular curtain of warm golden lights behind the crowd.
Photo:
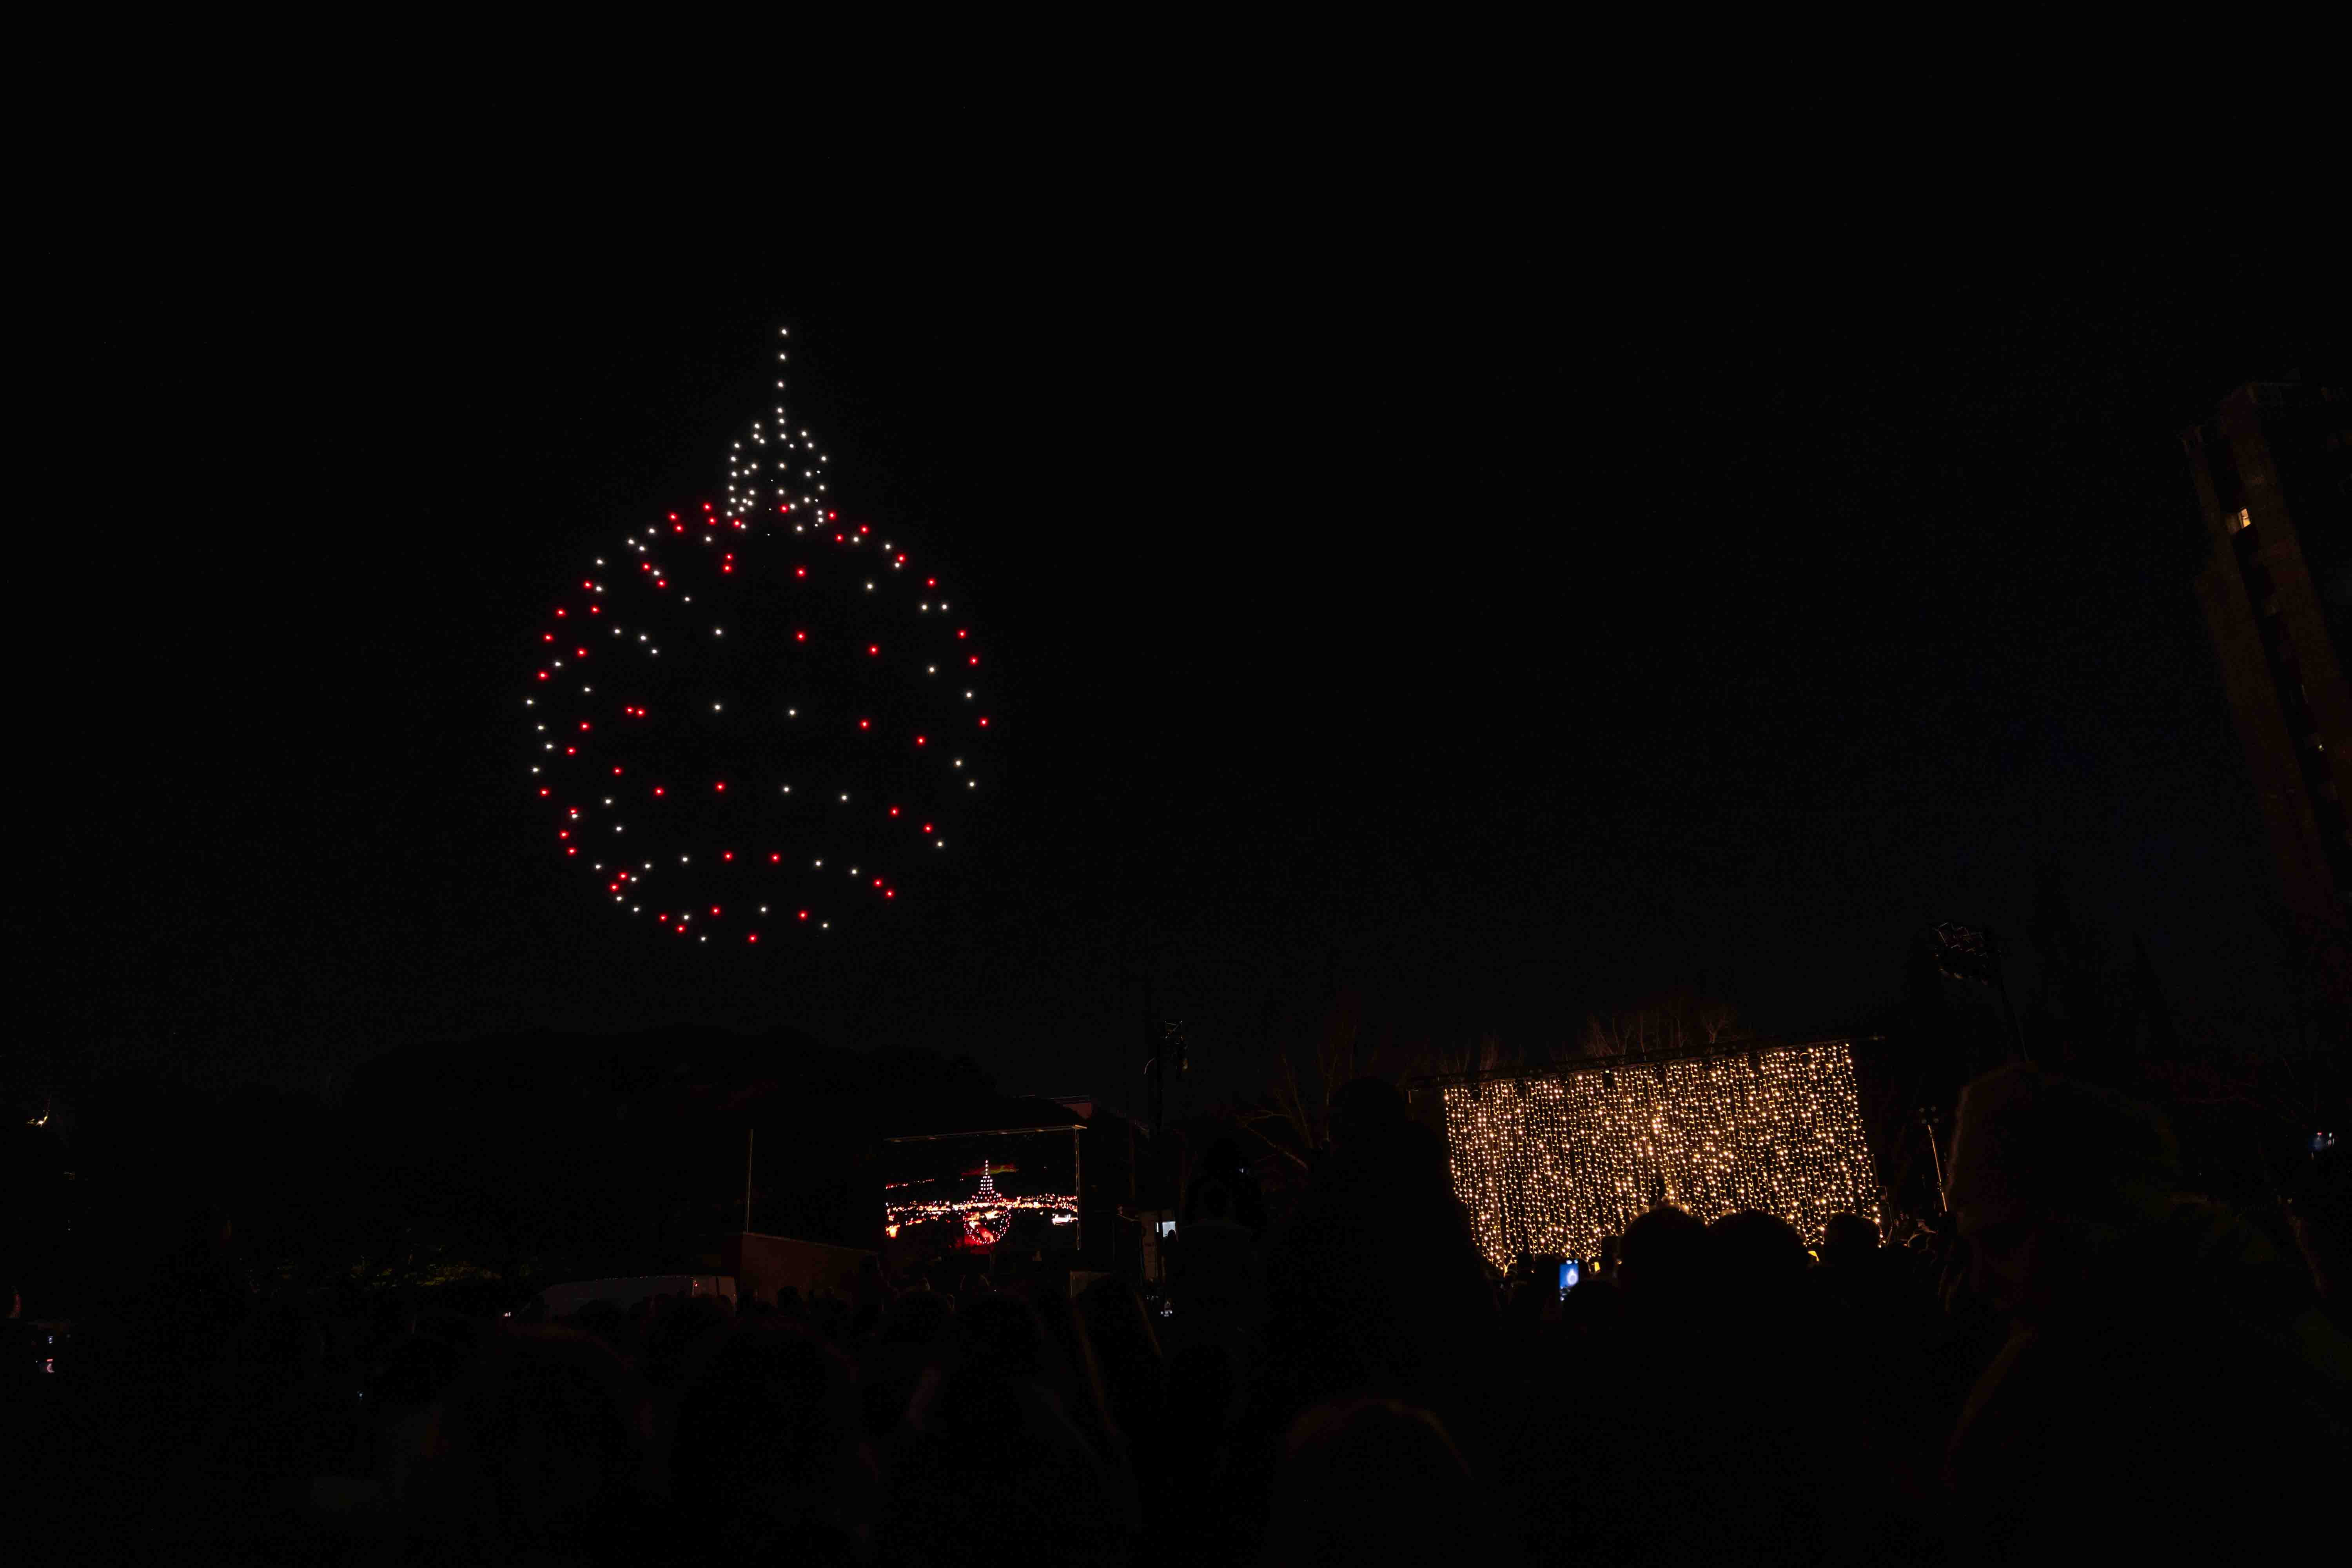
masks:
{"type": "Polygon", "coordinates": [[[1879,1218],[1842,1041],[1454,1084],[1444,1114],[1454,1192],[1501,1269],[1522,1251],[1595,1258],[1656,1204],[1762,1208],[1809,1246],[1832,1213],[1879,1218]]]}

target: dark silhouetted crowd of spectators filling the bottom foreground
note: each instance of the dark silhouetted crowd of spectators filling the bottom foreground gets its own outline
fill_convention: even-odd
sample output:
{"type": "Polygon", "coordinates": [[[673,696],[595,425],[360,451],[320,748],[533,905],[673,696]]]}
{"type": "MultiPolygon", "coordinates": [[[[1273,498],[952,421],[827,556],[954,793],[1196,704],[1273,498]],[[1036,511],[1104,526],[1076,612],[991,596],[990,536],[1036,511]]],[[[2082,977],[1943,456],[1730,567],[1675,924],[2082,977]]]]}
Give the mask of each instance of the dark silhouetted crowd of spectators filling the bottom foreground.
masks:
{"type": "Polygon", "coordinates": [[[205,1234],[78,1324],[73,1389],[14,1356],[14,1561],[2333,1554],[2352,1338],[2317,1171],[2281,1246],[2183,1192],[2147,1107],[2006,1067],[1962,1100],[1950,1213],[1809,1248],[1656,1206],[1562,1291],[1486,1267],[1439,1135],[1364,1079],[1282,1218],[1230,1145],[1200,1161],[1150,1295],[969,1258],[353,1326],[256,1307],[205,1234]]]}

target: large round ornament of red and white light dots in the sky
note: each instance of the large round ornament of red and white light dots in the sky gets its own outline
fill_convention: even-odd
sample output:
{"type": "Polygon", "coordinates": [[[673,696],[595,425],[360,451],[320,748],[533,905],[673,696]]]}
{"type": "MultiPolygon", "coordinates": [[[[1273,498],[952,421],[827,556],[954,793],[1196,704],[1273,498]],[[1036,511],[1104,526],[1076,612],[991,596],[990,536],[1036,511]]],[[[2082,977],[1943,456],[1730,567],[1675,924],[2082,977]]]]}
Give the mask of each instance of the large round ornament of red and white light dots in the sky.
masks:
{"type": "Polygon", "coordinates": [[[891,910],[988,790],[962,595],[901,534],[847,520],[823,473],[779,390],[729,456],[724,508],[619,538],[532,632],[548,844],[663,940],[757,950],[891,910]]]}

